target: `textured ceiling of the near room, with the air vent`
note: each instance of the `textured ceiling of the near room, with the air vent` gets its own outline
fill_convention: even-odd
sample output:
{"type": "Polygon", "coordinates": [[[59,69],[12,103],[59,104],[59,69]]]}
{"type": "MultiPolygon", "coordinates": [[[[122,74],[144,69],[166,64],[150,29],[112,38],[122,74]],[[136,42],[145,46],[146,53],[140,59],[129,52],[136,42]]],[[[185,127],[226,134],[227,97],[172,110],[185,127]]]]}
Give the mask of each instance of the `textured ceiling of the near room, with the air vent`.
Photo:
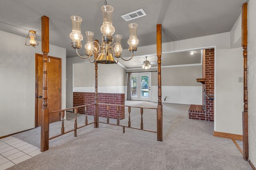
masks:
{"type": "MultiPolygon", "coordinates": [[[[123,35],[122,46],[128,48],[129,23],[138,23],[140,46],[156,44],[156,24],[162,23],[162,42],[177,41],[230,31],[241,13],[243,0],[107,0],[113,6],[114,34],[123,35]],[[143,8],[147,16],[124,21],[120,16],[143,8]]],[[[104,0],[1,0],[0,30],[26,37],[26,30],[38,31],[41,19],[50,18],[50,44],[66,48],[67,57],[75,57],[71,48],[70,16],[80,16],[82,34],[93,31],[101,41],[101,6],[104,0]]],[[[84,46],[85,41],[82,41],[84,46]]],[[[139,48],[138,48],[139,50],[139,48]]],[[[80,53],[83,53],[80,50],[80,53]]]]}

